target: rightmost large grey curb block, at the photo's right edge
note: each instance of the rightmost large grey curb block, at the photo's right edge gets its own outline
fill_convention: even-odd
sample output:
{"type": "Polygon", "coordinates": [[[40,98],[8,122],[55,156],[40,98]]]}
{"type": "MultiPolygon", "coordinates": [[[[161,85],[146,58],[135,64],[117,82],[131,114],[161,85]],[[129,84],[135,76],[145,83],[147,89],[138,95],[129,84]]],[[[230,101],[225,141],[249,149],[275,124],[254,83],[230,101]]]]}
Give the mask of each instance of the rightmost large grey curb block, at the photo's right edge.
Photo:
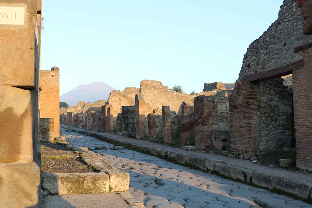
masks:
{"type": "Polygon", "coordinates": [[[310,197],[309,193],[312,188],[312,184],[299,181],[294,178],[276,176],[274,180],[274,188],[307,200],[310,197]]]}

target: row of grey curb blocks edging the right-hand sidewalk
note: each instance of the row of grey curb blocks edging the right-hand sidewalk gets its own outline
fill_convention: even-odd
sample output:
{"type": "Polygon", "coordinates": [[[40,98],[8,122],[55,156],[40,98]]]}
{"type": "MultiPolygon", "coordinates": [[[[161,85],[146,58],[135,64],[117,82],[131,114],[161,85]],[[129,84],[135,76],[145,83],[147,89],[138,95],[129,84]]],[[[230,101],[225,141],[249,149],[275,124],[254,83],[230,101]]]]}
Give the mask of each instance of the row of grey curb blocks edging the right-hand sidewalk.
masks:
{"type": "Polygon", "coordinates": [[[136,143],[109,138],[98,133],[87,132],[78,129],[76,129],[76,133],[95,137],[114,145],[124,146],[127,149],[165,159],[169,162],[178,163],[183,166],[188,166],[209,173],[216,173],[221,177],[239,181],[251,186],[261,187],[272,192],[295,197],[310,203],[312,202],[312,183],[299,181],[295,178],[277,176],[274,174],[268,174],[266,172],[255,171],[236,165],[230,165],[222,160],[170,152],[162,150],[161,148],[150,148],[136,143]]]}

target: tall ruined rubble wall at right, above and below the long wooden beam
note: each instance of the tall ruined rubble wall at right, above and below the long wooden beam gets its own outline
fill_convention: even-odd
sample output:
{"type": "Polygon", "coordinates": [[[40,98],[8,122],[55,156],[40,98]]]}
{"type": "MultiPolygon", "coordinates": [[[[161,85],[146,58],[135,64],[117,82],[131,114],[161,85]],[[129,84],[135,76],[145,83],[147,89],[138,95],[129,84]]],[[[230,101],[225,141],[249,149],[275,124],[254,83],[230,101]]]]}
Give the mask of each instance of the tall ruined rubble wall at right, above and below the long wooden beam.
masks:
{"type": "Polygon", "coordinates": [[[285,0],[280,8],[278,19],[248,47],[232,94],[231,117],[241,122],[238,127],[235,119],[231,121],[232,151],[237,157],[248,158],[291,148],[292,94],[288,88],[280,78],[260,81],[258,86],[241,83],[241,77],[245,75],[302,58],[294,53],[294,47],[307,41],[309,36],[304,36],[302,32],[300,8],[295,0],[285,0]],[[241,90],[245,89],[246,93],[241,94],[241,90]],[[248,112],[248,109],[251,110],[248,112]],[[243,110],[247,110],[249,115],[243,110]],[[256,128],[256,132],[245,132],[247,128],[256,128]],[[241,145],[243,143],[246,143],[245,147],[241,145]]]}

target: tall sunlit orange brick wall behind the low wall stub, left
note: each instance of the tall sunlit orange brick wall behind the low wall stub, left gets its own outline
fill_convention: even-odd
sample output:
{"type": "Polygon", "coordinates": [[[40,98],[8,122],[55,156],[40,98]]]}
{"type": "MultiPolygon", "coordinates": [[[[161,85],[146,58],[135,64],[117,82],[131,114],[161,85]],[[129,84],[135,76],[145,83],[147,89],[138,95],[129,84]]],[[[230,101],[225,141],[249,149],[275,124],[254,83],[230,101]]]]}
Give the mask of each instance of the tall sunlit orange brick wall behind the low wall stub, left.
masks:
{"type": "Polygon", "coordinates": [[[41,92],[39,96],[40,118],[54,119],[54,137],[60,136],[60,71],[52,67],[50,71],[40,71],[41,92]]]}

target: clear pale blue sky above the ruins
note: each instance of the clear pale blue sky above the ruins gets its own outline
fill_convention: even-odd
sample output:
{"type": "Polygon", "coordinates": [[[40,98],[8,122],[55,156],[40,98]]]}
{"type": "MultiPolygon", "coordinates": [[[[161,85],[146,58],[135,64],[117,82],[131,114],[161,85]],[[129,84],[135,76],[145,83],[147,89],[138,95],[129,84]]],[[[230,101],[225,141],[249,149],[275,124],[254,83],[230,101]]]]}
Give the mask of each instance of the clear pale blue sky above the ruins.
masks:
{"type": "Polygon", "coordinates": [[[234,83],[249,44],[283,0],[45,0],[41,70],[60,68],[60,94],[102,81],[123,90],[158,80],[186,93],[234,83]],[[221,2],[221,3],[220,3],[221,2]]]}

